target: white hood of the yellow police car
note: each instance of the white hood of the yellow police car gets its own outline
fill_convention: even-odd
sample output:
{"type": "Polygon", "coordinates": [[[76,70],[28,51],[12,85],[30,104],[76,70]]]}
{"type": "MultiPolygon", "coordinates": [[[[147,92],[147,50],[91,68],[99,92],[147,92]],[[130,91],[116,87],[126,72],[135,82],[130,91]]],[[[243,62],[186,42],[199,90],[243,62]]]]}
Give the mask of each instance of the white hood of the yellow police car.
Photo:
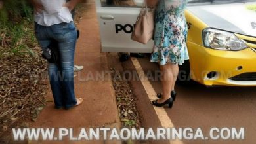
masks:
{"type": "Polygon", "coordinates": [[[256,11],[253,3],[188,6],[188,10],[209,27],[256,37],[256,11]]]}

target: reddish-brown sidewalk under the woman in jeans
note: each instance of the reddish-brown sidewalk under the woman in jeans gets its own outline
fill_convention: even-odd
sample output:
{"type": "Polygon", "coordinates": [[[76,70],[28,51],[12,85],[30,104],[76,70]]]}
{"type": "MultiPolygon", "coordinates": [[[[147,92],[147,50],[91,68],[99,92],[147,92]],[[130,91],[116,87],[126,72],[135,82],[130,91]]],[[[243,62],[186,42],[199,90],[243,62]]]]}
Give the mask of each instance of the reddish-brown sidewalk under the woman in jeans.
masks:
{"type": "MultiPolygon", "coordinates": [[[[81,35],[75,50],[75,64],[83,65],[85,68],[76,73],[75,95],[77,98],[83,98],[84,101],[78,107],[68,111],[54,109],[54,103],[47,102],[37,122],[30,124],[30,128],[74,128],[79,131],[80,128],[120,127],[110,74],[106,73],[102,77],[102,72],[109,71],[109,69],[106,54],[100,53],[100,33],[95,1],[87,0],[87,3],[83,5],[85,5],[85,12],[77,26],[81,35]],[[97,74],[99,74],[98,77],[97,74]]],[[[53,100],[50,89],[47,93],[47,100],[49,99],[53,100]]],[[[68,139],[65,141],[31,141],[31,143],[56,142],[89,143],[88,141],[70,142],[68,139]]],[[[104,142],[106,141],[91,141],[91,143],[104,142]]]]}

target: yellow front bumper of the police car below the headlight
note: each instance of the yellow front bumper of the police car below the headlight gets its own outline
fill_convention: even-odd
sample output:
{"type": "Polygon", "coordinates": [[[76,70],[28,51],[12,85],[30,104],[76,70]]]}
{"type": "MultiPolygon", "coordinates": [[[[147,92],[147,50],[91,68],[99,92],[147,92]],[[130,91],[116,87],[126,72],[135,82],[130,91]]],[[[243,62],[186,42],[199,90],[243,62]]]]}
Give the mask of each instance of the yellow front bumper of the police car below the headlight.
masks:
{"type": "Polygon", "coordinates": [[[190,76],[206,86],[256,86],[256,51],[213,50],[188,42],[190,76]]]}

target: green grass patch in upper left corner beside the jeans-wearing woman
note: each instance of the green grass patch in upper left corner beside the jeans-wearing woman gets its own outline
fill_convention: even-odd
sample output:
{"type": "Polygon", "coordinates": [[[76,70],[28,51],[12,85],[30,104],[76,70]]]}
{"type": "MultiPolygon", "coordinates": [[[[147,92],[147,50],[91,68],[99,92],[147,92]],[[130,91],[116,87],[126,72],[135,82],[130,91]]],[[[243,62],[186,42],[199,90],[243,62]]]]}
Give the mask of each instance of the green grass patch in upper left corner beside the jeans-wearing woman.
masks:
{"type": "Polygon", "coordinates": [[[0,59],[8,56],[34,56],[37,46],[33,32],[33,8],[26,0],[3,1],[0,10],[0,59]]]}

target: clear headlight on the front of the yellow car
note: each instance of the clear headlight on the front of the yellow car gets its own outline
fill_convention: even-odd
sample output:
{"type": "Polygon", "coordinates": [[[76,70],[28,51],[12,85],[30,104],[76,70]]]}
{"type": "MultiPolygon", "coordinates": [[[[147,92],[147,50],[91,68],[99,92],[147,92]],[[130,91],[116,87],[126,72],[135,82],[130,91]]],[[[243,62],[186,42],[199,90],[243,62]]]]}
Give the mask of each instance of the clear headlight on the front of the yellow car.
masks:
{"type": "Polygon", "coordinates": [[[203,30],[203,45],[217,50],[243,50],[248,46],[234,33],[217,29],[203,30]]]}

